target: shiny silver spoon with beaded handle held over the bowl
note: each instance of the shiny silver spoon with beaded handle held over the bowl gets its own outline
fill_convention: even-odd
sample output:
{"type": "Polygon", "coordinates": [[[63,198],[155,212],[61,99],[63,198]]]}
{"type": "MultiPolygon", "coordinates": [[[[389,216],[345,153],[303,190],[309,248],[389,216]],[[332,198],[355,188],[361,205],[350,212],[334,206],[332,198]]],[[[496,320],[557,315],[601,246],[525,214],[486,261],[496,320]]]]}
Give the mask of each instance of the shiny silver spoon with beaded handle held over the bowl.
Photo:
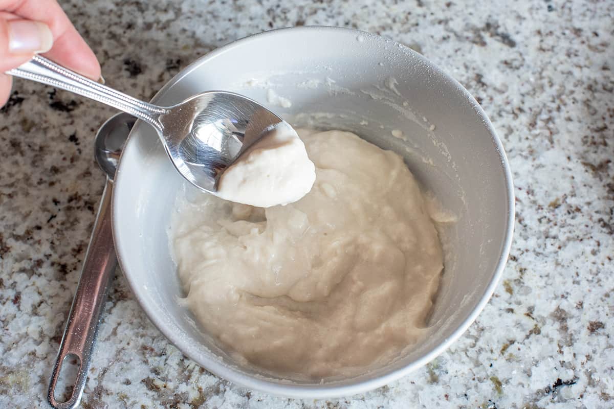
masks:
{"type": "Polygon", "coordinates": [[[41,56],[7,74],[71,91],[111,105],[149,123],[169,158],[189,182],[215,193],[217,180],[243,151],[283,122],[251,99],[209,91],[171,107],[158,107],[115,91],[41,56]]]}

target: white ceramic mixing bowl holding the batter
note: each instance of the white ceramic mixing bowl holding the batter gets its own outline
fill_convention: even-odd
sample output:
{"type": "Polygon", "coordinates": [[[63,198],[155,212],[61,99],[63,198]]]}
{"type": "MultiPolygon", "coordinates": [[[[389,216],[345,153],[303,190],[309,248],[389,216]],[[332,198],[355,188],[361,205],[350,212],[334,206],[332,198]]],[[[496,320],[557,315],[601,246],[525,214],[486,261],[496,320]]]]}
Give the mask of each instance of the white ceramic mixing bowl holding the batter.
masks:
{"type": "Polygon", "coordinates": [[[321,398],[394,381],[429,362],[467,329],[497,285],[514,220],[507,159],[467,90],[392,40],[324,27],[270,31],[219,48],[177,74],[153,102],[171,105],[208,90],[246,94],[293,124],[346,129],[396,151],[458,220],[441,232],[445,271],[429,319],[432,332],[406,357],[324,384],[263,377],[220,350],[177,302],[182,291],[167,232],[175,198],[186,183],[155,131],[139,121],[115,176],[115,248],[136,298],[170,342],[209,371],[247,388],[321,398]],[[287,105],[276,96],[292,105],[271,105],[287,105]],[[406,140],[393,137],[394,129],[406,140]]]}

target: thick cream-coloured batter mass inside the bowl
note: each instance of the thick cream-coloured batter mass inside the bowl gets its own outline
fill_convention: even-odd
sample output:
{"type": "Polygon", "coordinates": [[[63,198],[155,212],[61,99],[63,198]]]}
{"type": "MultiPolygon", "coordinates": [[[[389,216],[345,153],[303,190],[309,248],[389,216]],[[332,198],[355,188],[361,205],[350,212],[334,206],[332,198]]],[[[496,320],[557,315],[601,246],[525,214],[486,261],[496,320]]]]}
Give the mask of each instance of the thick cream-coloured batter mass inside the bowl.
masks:
{"type": "Polygon", "coordinates": [[[183,201],[171,233],[187,304],[226,350],[292,378],[353,376],[426,335],[443,255],[400,156],[349,132],[299,131],[303,199],[183,201]]]}

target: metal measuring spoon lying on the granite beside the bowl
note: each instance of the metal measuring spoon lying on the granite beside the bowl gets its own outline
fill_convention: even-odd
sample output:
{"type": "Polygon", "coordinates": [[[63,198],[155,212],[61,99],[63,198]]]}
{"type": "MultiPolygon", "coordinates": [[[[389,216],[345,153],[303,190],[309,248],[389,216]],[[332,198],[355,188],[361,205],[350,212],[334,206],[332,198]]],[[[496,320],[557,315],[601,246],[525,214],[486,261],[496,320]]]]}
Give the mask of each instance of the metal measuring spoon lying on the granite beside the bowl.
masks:
{"type": "Polygon", "coordinates": [[[113,237],[111,235],[111,194],[117,159],[122,151],[130,129],[136,118],[127,113],[119,113],[109,118],[96,134],[94,156],[98,166],[107,175],[103,197],[98,207],[98,216],[91,232],[90,244],[85,253],[85,261],[79,278],[79,286],[72,300],[71,312],[60,343],[60,351],[53,366],[47,400],[56,409],[72,409],[79,405],[90,369],[91,353],[103,305],[106,300],[109,281],[117,266],[113,237]],[[55,386],[58,383],[62,365],[66,357],[79,359],[79,369],[66,402],[55,399],[55,386]]]}

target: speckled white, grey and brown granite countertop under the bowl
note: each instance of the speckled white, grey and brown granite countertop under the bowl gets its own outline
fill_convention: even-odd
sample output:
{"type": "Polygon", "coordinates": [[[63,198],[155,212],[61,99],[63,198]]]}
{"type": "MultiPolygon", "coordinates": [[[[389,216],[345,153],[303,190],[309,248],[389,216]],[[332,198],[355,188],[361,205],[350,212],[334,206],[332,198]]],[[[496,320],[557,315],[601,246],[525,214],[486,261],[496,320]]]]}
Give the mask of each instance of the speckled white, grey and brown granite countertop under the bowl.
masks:
{"type": "MultiPolygon", "coordinates": [[[[410,45],[488,112],[517,205],[491,302],[400,381],[328,401],[239,388],[169,345],[118,274],[82,407],[614,407],[614,2],[490,3],[64,1],[107,81],[145,99],[197,56],[266,29],[349,26],[410,45]]],[[[112,112],[17,82],[0,113],[0,407],[46,407],[104,184],[93,135],[112,112]]]]}

